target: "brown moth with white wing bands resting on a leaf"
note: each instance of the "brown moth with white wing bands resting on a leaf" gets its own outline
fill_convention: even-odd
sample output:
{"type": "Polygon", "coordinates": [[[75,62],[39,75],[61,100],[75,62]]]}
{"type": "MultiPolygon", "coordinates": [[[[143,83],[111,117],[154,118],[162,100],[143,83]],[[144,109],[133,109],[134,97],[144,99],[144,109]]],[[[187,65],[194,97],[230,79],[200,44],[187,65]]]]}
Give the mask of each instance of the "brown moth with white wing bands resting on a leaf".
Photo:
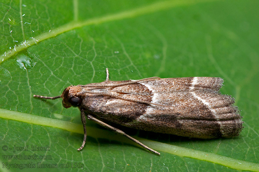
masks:
{"type": "Polygon", "coordinates": [[[158,133],[193,138],[231,138],[238,136],[243,121],[235,99],[219,92],[223,79],[218,77],[159,78],[106,81],[69,86],[56,97],[33,95],[42,99],[62,98],[65,108],[78,107],[86,142],[86,119],[142,144],[106,121],[158,133]]]}

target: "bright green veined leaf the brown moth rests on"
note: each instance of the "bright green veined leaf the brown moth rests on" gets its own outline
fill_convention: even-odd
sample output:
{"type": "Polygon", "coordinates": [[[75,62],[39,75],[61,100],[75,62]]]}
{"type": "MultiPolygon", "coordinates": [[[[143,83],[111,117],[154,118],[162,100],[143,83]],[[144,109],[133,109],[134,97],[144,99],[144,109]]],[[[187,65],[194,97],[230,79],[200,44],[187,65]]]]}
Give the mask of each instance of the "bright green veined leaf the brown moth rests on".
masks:
{"type": "Polygon", "coordinates": [[[2,1],[1,170],[259,171],[258,5],[2,1]],[[87,143],[77,152],[83,140],[79,110],[33,94],[56,96],[69,85],[102,82],[105,68],[111,80],[222,77],[221,92],[235,97],[245,128],[236,138],[212,140],[124,129],[157,156],[87,120],[87,143]]]}

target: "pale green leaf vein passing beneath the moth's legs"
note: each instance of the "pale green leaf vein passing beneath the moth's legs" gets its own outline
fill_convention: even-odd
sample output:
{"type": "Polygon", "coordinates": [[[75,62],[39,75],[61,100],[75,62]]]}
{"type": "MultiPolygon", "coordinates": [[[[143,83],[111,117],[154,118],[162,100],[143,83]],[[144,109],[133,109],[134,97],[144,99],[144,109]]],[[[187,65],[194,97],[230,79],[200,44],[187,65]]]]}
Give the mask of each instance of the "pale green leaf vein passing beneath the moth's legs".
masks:
{"type": "MultiPolygon", "coordinates": [[[[30,124],[35,125],[42,125],[42,126],[48,126],[48,127],[54,127],[54,128],[60,128],[63,130],[67,130],[70,132],[75,132],[79,134],[83,134],[82,125],[81,124],[75,124],[72,122],[52,119],[52,118],[46,118],[42,116],[32,115],[32,114],[26,114],[22,112],[16,112],[11,110],[5,110],[0,109],[0,117],[7,119],[7,120],[15,120],[20,122],[26,122],[30,124]]],[[[107,130],[97,129],[97,128],[87,128],[88,131],[87,134],[91,137],[98,137],[98,138],[107,138],[110,139],[111,137],[108,134],[107,130]],[[98,133],[102,133],[101,135],[98,135],[98,133]]],[[[119,137],[112,137],[113,140],[121,141],[119,137]]],[[[136,137],[135,137],[136,138],[136,137]]],[[[237,170],[247,170],[247,171],[258,171],[259,172],[259,164],[257,163],[251,163],[247,161],[241,161],[238,159],[233,159],[229,157],[225,157],[222,155],[217,155],[214,153],[207,153],[204,151],[199,150],[193,150],[189,148],[184,148],[181,146],[175,146],[171,144],[161,143],[157,141],[147,140],[143,138],[137,138],[140,140],[140,142],[146,144],[147,146],[159,150],[165,153],[170,153],[173,155],[177,155],[180,157],[189,157],[198,159],[201,161],[207,161],[212,162],[216,164],[220,164],[229,168],[237,169],[237,170]]]]}

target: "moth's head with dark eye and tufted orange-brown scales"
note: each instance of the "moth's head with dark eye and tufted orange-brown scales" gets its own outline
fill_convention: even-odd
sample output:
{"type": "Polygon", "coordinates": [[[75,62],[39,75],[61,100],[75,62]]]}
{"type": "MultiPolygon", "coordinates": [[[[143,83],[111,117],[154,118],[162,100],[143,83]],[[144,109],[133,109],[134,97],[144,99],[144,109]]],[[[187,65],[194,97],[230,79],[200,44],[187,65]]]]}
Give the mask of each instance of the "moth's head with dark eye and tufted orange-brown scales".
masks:
{"type": "Polygon", "coordinates": [[[83,99],[76,95],[77,92],[80,92],[77,86],[70,86],[64,89],[63,93],[61,94],[61,98],[63,99],[63,107],[69,108],[71,106],[81,106],[83,99]]]}

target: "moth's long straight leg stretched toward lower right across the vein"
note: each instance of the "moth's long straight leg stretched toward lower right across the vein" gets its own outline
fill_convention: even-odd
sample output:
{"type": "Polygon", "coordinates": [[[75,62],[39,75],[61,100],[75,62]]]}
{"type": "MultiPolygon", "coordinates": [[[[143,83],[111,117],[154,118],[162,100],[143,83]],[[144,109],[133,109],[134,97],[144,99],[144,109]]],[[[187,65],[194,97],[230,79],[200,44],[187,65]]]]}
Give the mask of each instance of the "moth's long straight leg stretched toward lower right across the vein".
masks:
{"type": "Polygon", "coordinates": [[[123,131],[121,131],[121,130],[119,130],[119,129],[113,127],[113,126],[110,126],[110,125],[108,125],[108,124],[106,124],[106,123],[104,123],[104,122],[102,122],[102,121],[100,121],[100,120],[94,118],[94,117],[91,116],[91,115],[87,115],[87,119],[92,120],[92,121],[96,122],[97,124],[99,124],[99,125],[101,125],[101,126],[104,126],[104,127],[108,128],[108,129],[111,129],[111,130],[113,130],[113,131],[116,132],[116,133],[122,134],[123,136],[126,136],[127,138],[129,138],[130,140],[132,140],[132,141],[138,143],[140,146],[146,148],[147,150],[149,150],[149,151],[151,151],[151,152],[153,152],[153,153],[156,153],[157,155],[160,155],[159,152],[157,152],[157,151],[155,151],[155,150],[149,148],[148,146],[144,145],[143,143],[141,143],[141,142],[138,141],[137,139],[135,139],[135,138],[133,138],[133,137],[127,135],[125,132],[123,132],[123,131]]]}

